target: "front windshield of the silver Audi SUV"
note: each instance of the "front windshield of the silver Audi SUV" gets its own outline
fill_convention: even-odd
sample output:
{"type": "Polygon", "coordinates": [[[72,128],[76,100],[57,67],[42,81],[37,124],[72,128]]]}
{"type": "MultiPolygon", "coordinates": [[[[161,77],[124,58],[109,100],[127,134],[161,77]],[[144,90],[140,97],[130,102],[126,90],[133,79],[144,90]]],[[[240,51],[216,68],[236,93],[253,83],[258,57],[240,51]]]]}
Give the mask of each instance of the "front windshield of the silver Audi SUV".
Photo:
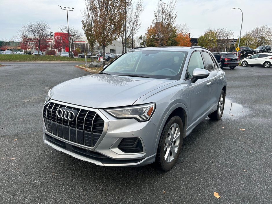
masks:
{"type": "Polygon", "coordinates": [[[187,53],[162,50],[131,51],[117,58],[103,72],[178,80],[187,53]]]}

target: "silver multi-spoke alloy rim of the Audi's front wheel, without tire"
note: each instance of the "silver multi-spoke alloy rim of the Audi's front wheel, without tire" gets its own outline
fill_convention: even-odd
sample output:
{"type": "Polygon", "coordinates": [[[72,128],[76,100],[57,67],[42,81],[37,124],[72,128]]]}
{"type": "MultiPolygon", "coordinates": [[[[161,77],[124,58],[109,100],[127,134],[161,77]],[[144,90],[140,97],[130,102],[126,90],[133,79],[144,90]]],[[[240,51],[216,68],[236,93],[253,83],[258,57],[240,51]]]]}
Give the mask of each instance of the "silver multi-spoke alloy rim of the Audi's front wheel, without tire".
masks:
{"type": "Polygon", "coordinates": [[[180,128],[177,123],[174,123],[169,128],[164,142],[163,152],[164,159],[167,163],[173,161],[173,159],[177,155],[179,149],[179,141],[180,141],[180,128]]]}

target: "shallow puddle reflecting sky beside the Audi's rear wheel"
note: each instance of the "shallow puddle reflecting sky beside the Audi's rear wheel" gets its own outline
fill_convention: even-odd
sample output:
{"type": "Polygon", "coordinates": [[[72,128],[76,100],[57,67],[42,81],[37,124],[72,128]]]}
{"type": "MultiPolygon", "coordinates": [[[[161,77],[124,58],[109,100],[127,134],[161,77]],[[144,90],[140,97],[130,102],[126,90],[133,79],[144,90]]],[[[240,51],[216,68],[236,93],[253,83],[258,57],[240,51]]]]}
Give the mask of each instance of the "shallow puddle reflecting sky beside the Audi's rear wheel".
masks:
{"type": "Polygon", "coordinates": [[[249,113],[248,109],[245,108],[246,105],[241,105],[238,103],[231,102],[230,100],[225,100],[225,107],[223,115],[227,117],[241,117],[249,113]]]}

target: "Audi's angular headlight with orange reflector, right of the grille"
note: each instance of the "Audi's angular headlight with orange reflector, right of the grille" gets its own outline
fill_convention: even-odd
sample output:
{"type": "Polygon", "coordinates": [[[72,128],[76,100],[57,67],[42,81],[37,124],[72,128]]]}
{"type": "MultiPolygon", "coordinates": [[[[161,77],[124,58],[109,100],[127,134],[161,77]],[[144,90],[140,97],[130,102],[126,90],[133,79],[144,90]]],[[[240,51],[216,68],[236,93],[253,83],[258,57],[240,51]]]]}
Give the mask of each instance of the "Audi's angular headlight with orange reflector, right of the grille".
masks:
{"type": "Polygon", "coordinates": [[[155,105],[155,103],[149,103],[139,106],[106,109],[105,111],[117,118],[135,118],[139,122],[144,122],[149,120],[154,113],[155,105]]]}

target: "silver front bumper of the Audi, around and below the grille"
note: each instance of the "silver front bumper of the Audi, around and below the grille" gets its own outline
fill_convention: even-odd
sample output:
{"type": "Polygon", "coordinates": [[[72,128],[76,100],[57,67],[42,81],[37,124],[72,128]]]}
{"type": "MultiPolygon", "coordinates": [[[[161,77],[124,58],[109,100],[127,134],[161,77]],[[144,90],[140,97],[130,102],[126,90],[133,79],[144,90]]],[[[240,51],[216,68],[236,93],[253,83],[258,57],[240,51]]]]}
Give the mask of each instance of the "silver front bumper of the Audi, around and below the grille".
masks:
{"type": "Polygon", "coordinates": [[[105,121],[105,125],[103,133],[94,148],[65,141],[47,132],[45,125],[43,129],[44,142],[73,157],[102,166],[144,166],[155,161],[158,126],[150,121],[120,120],[103,109],[96,109],[96,111],[105,121]],[[142,152],[126,153],[117,147],[122,138],[129,137],[138,137],[141,140],[142,152]]]}

